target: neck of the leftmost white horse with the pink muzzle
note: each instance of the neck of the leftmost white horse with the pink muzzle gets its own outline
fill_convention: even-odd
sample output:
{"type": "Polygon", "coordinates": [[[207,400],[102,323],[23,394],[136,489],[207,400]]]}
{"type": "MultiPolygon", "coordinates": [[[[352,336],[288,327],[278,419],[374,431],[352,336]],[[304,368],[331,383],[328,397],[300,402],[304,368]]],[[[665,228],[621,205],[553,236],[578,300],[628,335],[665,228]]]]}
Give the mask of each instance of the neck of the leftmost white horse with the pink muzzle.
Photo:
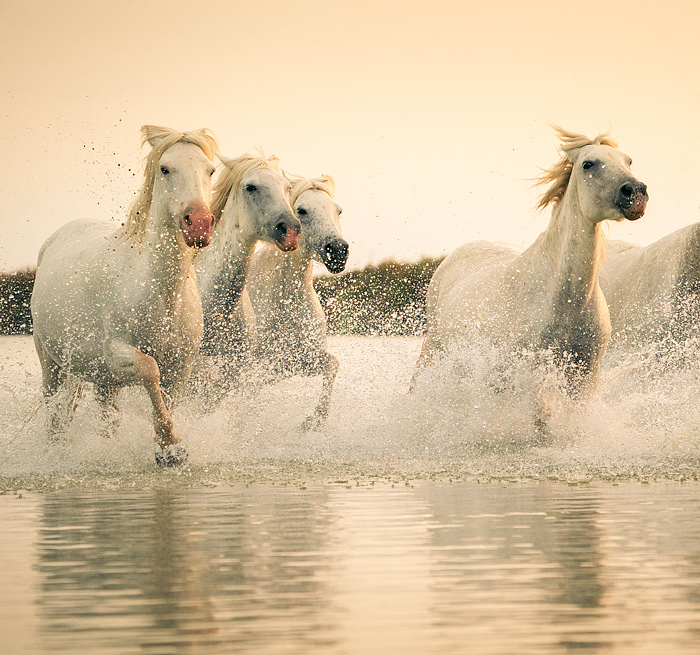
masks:
{"type": "Polygon", "coordinates": [[[147,275],[155,283],[155,291],[167,307],[174,305],[192,268],[193,251],[166,221],[165,211],[153,206],[146,226],[145,246],[148,250],[147,275]]]}

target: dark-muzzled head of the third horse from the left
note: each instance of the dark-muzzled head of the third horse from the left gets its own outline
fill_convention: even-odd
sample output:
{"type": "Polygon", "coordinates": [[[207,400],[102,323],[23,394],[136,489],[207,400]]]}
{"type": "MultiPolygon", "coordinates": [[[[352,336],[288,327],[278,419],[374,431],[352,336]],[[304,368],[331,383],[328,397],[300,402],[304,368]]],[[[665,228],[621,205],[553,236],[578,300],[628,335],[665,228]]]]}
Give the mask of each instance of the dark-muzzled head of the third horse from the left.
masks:
{"type": "Polygon", "coordinates": [[[330,273],[341,273],[349,246],[340,231],[342,208],[333,200],[335,182],[329,175],[304,180],[296,178],[292,204],[302,225],[304,255],[321,262],[330,273]]]}

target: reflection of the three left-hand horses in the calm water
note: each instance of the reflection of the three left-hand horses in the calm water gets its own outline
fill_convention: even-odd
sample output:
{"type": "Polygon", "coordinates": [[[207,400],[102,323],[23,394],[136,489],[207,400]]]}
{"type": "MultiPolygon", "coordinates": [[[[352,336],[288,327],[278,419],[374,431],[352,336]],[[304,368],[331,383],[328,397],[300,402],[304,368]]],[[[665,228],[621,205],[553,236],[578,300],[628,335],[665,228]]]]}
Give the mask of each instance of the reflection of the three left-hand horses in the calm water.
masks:
{"type": "Polygon", "coordinates": [[[300,646],[315,643],[328,632],[318,575],[328,566],[325,495],[272,487],[47,496],[39,543],[47,643],[116,652],[128,641],[144,653],[264,649],[290,633],[300,646]]]}

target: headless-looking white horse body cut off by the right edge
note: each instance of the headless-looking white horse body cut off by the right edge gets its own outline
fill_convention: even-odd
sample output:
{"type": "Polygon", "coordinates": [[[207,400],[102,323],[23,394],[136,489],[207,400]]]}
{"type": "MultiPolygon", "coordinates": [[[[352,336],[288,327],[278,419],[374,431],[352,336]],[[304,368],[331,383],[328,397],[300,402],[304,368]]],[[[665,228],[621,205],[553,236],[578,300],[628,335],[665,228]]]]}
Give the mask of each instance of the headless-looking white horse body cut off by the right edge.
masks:
{"type": "Polygon", "coordinates": [[[601,286],[616,346],[672,346],[697,337],[700,223],[646,247],[611,241],[601,286]]]}

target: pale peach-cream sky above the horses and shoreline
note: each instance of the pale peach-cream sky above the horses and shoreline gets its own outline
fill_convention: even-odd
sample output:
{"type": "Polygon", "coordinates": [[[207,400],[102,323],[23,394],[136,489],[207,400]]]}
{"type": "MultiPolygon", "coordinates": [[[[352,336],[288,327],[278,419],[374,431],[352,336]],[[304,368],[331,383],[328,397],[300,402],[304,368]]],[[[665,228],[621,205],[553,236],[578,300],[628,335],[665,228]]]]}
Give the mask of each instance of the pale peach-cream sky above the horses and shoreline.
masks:
{"type": "Polygon", "coordinates": [[[333,175],[349,268],[531,243],[549,121],[612,127],[648,185],[611,238],[700,221],[696,0],[0,0],[0,61],[0,270],[123,217],[144,123],[333,175]]]}

